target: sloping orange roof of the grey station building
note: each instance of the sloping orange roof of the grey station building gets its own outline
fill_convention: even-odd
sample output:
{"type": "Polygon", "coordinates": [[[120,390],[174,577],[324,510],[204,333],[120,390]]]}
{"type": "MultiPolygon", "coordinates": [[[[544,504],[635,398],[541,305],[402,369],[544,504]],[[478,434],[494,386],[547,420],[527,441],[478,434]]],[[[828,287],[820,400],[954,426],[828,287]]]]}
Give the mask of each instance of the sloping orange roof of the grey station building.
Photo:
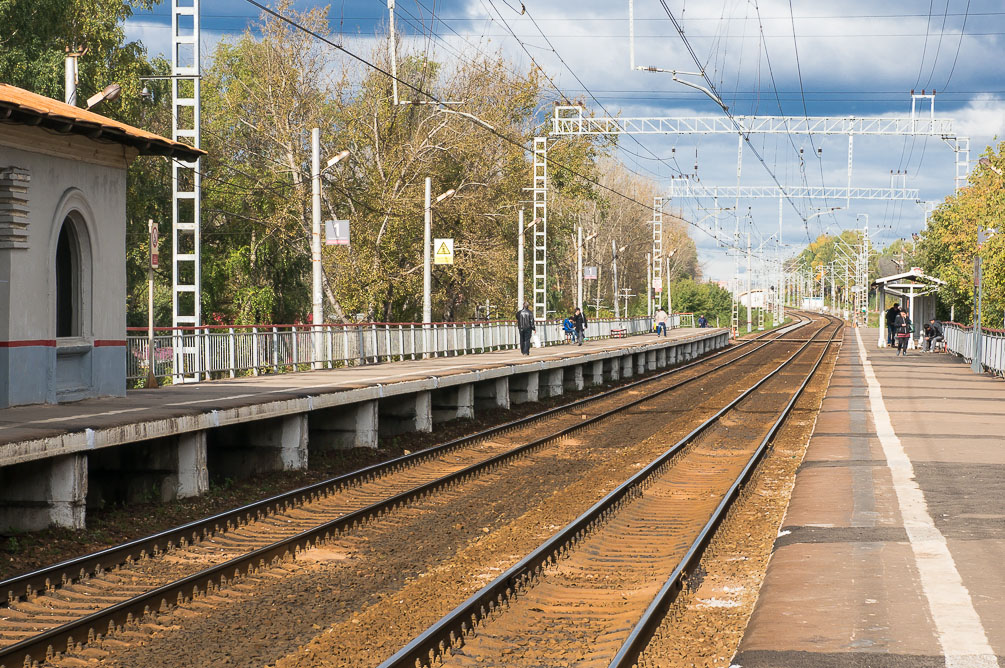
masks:
{"type": "Polygon", "coordinates": [[[141,155],[146,156],[193,161],[206,155],[205,151],[187,144],[6,83],[0,83],[0,123],[42,126],[55,132],[118,142],[138,149],[141,155]]]}

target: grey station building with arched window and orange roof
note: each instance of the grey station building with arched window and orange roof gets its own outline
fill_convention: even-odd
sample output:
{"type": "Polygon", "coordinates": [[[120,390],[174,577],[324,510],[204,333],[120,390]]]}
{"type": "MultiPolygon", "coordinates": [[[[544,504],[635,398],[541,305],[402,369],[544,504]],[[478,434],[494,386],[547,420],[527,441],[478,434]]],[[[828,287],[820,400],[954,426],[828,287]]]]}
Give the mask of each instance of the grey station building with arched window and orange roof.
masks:
{"type": "Polygon", "coordinates": [[[126,170],[203,153],[0,83],[0,408],[126,394],[126,170]]]}

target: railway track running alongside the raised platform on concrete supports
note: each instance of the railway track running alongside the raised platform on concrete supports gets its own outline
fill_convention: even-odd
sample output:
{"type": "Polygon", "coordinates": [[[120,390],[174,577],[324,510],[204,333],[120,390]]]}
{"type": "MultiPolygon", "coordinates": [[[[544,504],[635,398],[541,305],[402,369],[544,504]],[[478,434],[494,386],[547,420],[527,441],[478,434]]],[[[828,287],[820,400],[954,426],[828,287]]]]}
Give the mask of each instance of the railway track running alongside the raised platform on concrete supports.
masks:
{"type": "Polygon", "coordinates": [[[147,611],[224,586],[236,575],[317,545],[340,531],[491,470],[584,426],[717,374],[748,360],[776,340],[746,343],[739,350],[457,439],[431,451],[2,583],[10,594],[6,609],[0,611],[0,617],[5,618],[0,623],[0,643],[5,645],[0,647],[0,665],[21,665],[25,658],[44,659],[147,611]],[[671,377],[668,385],[660,384],[671,377]],[[642,388],[646,390],[644,397],[622,401],[642,388]],[[591,415],[583,420],[586,412],[591,415]],[[517,437],[527,430],[547,435],[530,440],[526,435],[517,437]],[[165,559],[167,555],[170,559],[165,559]],[[205,568],[207,563],[212,566],[205,568]],[[16,594],[19,590],[21,593],[16,594]]]}

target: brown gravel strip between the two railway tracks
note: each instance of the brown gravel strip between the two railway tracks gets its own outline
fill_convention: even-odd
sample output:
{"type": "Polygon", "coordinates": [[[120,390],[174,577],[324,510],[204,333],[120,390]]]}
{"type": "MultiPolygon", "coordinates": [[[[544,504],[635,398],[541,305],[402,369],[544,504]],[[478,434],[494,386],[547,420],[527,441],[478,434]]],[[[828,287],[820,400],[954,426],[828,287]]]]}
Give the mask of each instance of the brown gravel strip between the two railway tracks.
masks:
{"type": "MultiPolygon", "coordinates": [[[[753,375],[767,365],[745,366],[753,375]]],[[[589,445],[572,438],[549,446],[514,464],[516,470],[497,470],[396,510],[295,563],[145,620],[61,663],[260,665],[307,643],[279,665],[375,664],[735,396],[745,376],[734,372],[715,390],[717,383],[703,379],[695,390],[708,394],[654,400],[634,416],[585,432],[589,445]],[[657,413],[659,420],[650,419],[657,413]],[[540,462],[547,466],[533,467],[540,462]],[[494,566],[486,570],[486,563],[494,566]]]]}

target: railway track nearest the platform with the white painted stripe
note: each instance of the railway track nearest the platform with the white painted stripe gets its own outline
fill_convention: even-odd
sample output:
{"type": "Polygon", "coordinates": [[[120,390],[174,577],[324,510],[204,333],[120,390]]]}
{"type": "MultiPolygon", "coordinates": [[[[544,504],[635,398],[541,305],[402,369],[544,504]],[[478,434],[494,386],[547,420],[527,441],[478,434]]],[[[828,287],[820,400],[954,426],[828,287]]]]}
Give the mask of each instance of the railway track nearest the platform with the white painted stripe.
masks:
{"type": "Polygon", "coordinates": [[[663,614],[839,335],[842,325],[828,320],[776,369],[380,668],[642,665],[663,614]],[[831,327],[829,339],[818,338],[831,327]]]}

